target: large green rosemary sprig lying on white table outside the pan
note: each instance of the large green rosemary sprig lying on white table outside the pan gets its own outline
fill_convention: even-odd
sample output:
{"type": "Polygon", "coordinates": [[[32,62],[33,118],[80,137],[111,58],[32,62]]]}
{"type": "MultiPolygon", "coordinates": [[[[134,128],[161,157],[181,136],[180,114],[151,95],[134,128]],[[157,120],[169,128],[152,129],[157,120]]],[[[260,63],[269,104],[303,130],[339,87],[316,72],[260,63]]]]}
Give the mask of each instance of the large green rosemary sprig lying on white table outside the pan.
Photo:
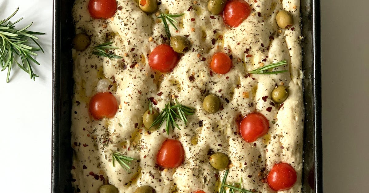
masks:
{"type": "Polygon", "coordinates": [[[33,22],[23,29],[17,30],[14,24],[22,20],[23,17],[14,23],[9,21],[18,10],[19,7],[11,16],[0,20],[0,65],[1,71],[8,68],[6,82],[9,82],[10,70],[14,63],[17,63],[18,67],[30,74],[30,78],[35,80],[35,77],[38,77],[38,75],[33,72],[31,64],[40,65],[40,63],[33,57],[38,55],[35,53],[37,51],[44,53],[44,50],[42,50],[40,44],[37,42],[38,37],[35,35],[43,35],[45,33],[27,30],[33,22]],[[32,40],[37,46],[33,46],[29,40],[32,40]],[[20,60],[15,57],[19,57],[20,60]]]}

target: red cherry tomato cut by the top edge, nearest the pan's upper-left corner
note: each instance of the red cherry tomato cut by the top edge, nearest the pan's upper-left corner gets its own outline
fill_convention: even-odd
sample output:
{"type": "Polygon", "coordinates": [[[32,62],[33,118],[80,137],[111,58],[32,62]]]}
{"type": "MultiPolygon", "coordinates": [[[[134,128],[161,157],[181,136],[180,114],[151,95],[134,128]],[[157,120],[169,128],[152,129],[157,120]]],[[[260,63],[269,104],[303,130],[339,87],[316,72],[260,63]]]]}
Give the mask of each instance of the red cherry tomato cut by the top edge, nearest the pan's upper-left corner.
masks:
{"type": "Polygon", "coordinates": [[[110,18],[117,11],[117,2],[115,0],[90,0],[89,12],[92,18],[110,18]]]}

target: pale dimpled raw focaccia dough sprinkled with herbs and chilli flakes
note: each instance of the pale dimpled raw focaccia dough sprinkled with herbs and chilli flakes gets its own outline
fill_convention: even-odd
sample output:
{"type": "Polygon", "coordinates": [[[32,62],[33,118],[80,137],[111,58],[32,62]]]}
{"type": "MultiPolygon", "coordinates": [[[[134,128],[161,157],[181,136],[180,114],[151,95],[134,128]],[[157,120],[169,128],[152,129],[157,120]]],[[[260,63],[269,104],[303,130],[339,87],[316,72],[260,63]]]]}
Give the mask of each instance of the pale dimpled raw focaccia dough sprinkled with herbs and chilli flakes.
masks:
{"type": "Polygon", "coordinates": [[[228,28],[221,15],[209,13],[207,1],[194,4],[189,0],[161,0],[160,11],[184,13],[177,18],[178,32],[170,26],[172,35],[186,35],[192,42],[190,51],[181,57],[173,72],[161,74],[151,70],[147,60],[157,45],[168,44],[163,24],[158,22],[155,13],[142,12],[134,0],[117,0],[119,8],[114,17],[96,20],[89,15],[88,0],[76,0],[73,7],[76,33],[86,33],[92,40],[85,51],[73,50],[75,94],[71,131],[75,156],[72,175],[77,191],[96,193],[108,179],[120,193],[134,192],[142,185],[149,185],[159,193],[175,189],[186,193],[217,192],[224,171],[211,167],[208,161],[211,150],[229,156],[232,167],[227,182],[230,184],[239,182],[242,177],[244,189],[273,192],[262,178],[276,162],[286,162],[294,167],[298,177],[292,189],[283,192],[301,191],[300,2],[247,2],[252,7],[250,16],[238,27],[228,28]],[[277,12],[282,9],[294,17],[294,25],[288,30],[280,30],[275,21],[277,12]],[[114,53],[123,60],[91,54],[93,46],[108,41],[119,47],[114,53]],[[209,63],[218,51],[232,55],[233,67],[225,75],[213,73],[211,76],[209,63]],[[289,73],[246,74],[262,63],[282,60],[287,60],[288,65],[278,70],[287,69],[289,73]],[[191,75],[194,81],[190,81],[191,75]],[[289,88],[290,95],[278,109],[270,92],[280,84],[289,88]],[[107,91],[116,96],[120,109],[112,119],[93,120],[88,112],[89,99],[96,92],[107,91]],[[160,92],[162,95],[157,95],[160,92]],[[203,110],[202,102],[208,93],[221,98],[223,109],[215,114],[203,110]],[[178,96],[183,105],[196,108],[196,114],[188,116],[187,126],[179,122],[182,129],[170,131],[169,136],[163,132],[163,126],[149,134],[141,120],[147,110],[147,99],[154,97],[158,101],[154,107],[161,111],[171,95],[178,96]],[[253,111],[268,118],[270,129],[255,143],[247,143],[237,133],[236,119],[253,111]],[[166,138],[182,143],[185,160],[176,169],[161,171],[155,163],[156,153],[166,138]],[[132,173],[119,165],[113,167],[111,151],[138,159],[130,165],[132,173]]]}

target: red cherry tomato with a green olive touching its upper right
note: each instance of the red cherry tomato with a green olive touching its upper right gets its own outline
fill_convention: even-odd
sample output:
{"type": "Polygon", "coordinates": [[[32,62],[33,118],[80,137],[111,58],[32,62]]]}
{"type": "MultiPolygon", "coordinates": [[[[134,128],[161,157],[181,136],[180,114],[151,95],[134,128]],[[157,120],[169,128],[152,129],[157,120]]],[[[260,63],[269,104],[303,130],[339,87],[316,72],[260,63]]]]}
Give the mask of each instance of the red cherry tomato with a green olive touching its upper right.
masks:
{"type": "Polygon", "coordinates": [[[160,72],[170,72],[178,62],[178,55],[166,44],[158,45],[149,55],[149,65],[160,72]]]}

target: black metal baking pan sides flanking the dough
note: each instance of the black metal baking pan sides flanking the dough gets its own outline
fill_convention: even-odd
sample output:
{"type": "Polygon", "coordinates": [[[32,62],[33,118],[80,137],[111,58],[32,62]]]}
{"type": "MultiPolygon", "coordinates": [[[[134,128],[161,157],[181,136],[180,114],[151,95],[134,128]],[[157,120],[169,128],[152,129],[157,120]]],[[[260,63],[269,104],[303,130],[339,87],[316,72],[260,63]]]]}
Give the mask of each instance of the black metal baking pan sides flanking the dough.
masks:
{"type": "MultiPolygon", "coordinates": [[[[70,121],[73,95],[73,0],[54,0],[52,193],[73,193],[70,121]]],[[[305,127],[303,193],[323,192],[321,131],[320,1],[301,0],[305,127]]]]}

